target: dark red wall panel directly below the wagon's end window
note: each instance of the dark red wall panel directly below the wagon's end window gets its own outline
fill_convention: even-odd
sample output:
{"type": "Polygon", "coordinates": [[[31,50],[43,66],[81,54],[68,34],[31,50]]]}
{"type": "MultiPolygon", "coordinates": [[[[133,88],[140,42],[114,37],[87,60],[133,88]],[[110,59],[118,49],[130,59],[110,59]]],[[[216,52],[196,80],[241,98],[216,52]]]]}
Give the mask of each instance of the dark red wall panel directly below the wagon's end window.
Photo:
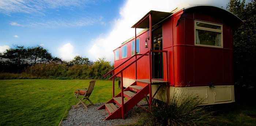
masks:
{"type": "Polygon", "coordinates": [[[195,48],[195,84],[223,83],[223,55],[221,49],[195,48]]]}

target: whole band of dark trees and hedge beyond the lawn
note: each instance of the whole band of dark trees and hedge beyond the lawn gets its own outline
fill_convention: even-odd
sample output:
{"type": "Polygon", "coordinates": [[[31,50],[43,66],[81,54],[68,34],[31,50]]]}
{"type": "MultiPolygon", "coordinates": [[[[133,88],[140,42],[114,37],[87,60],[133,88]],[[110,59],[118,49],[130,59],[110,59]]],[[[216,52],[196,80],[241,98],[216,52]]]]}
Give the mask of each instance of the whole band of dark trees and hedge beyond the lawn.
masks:
{"type": "Polygon", "coordinates": [[[105,58],[92,62],[89,58],[76,56],[66,62],[53,57],[41,46],[25,48],[18,45],[0,54],[0,65],[0,79],[107,79],[103,75],[114,68],[105,58]]]}

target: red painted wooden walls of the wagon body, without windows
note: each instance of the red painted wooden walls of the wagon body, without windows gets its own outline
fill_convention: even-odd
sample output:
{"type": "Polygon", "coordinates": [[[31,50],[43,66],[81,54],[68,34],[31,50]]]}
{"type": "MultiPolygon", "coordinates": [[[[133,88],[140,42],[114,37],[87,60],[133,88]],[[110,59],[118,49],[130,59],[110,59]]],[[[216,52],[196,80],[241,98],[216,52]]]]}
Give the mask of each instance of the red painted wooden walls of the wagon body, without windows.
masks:
{"type": "MultiPolygon", "coordinates": [[[[160,25],[163,29],[163,50],[168,51],[167,58],[163,53],[163,79],[169,81],[170,85],[176,87],[208,86],[211,82],[216,85],[233,84],[233,26],[231,26],[230,20],[213,13],[180,11],[158,24],[158,26],[160,25]],[[194,46],[194,20],[222,24],[223,48],[194,46]],[[168,66],[166,62],[168,62],[168,66]]],[[[148,43],[149,48],[144,48],[144,41],[149,36],[151,36],[150,30],[136,37],[140,38],[140,54],[150,49],[150,43],[148,43]]],[[[128,48],[131,41],[127,43],[128,48]]],[[[121,56],[121,51],[119,52],[119,56],[121,56]]],[[[149,56],[142,57],[136,62],[136,69],[136,65],[130,66],[123,71],[123,76],[130,79],[150,79],[151,74],[148,68],[151,68],[151,62],[149,58],[149,56]],[[137,76],[135,76],[136,74],[137,76]]],[[[120,58],[120,60],[114,61],[114,66],[116,67],[124,60],[120,58]]],[[[129,63],[131,62],[127,62],[127,64],[129,63]]]]}

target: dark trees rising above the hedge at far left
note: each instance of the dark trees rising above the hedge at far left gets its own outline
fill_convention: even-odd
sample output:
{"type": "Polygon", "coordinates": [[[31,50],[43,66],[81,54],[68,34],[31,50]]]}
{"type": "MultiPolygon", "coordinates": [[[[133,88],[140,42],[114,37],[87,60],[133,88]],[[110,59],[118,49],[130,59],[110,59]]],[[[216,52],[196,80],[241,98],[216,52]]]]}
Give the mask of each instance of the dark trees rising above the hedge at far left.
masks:
{"type": "Polygon", "coordinates": [[[1,53],[1,72],[23,72],[32,64],[50,62],[52,55],[41,46],[27,47],[14,45],[1,53]]]}

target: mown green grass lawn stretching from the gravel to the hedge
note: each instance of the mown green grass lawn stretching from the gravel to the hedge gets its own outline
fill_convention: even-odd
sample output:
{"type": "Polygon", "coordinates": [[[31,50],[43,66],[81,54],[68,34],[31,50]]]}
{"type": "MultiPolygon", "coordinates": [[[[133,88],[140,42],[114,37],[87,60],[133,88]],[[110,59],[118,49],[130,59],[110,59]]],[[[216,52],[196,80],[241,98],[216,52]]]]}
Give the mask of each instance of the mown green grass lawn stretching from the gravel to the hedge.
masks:
{"type": "MultiPolygon", "coordinates": [[[[89,81],[0,80],[0,125],[59,125],[67,108],[78,102],[75,89],[88,87],[89,81]]],[[[120,90],[117,82],[115,85],[117,94],[120,90]]],[[[112,81],[97,80],[90,96],[92,102],[111,98],[112,81]]]]}

